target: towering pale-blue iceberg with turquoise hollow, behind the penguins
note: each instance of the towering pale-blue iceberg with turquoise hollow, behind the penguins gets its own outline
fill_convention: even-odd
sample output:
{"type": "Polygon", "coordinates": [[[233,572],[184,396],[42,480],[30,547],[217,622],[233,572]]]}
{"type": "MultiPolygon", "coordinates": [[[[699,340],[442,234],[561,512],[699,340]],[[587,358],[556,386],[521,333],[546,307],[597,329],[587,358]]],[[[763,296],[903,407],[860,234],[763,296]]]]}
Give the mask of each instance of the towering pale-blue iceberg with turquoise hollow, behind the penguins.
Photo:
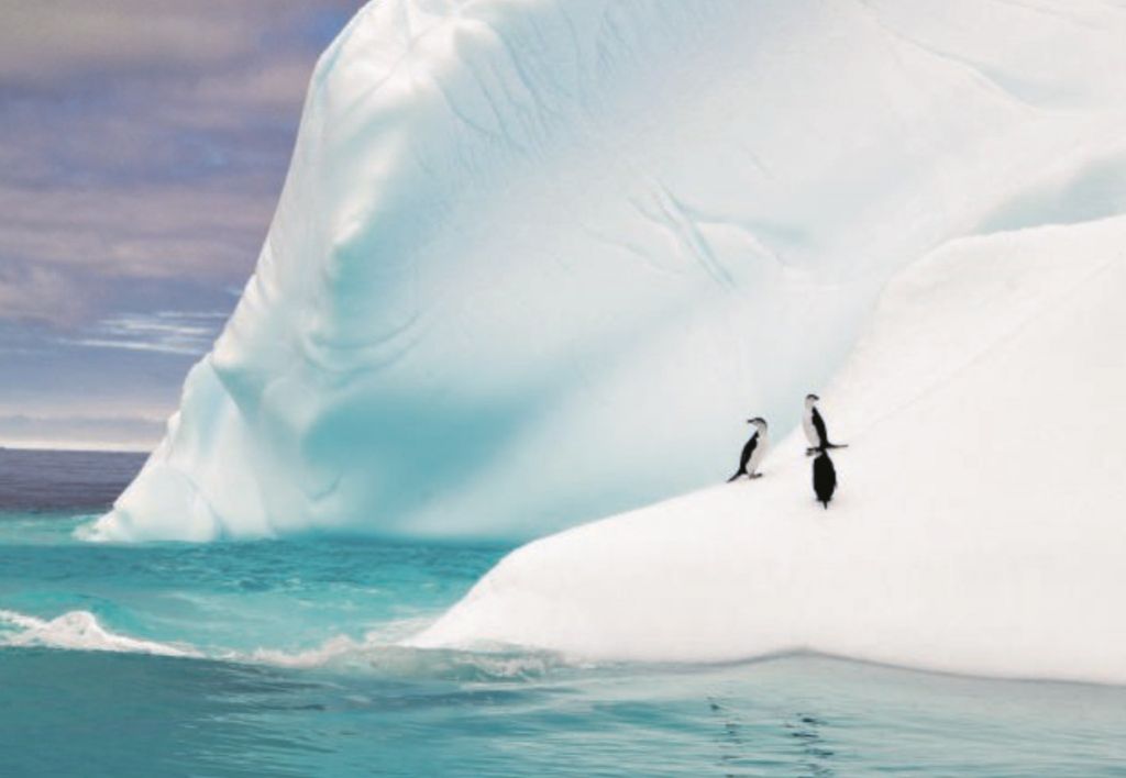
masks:
{"type": "Polygon", "coordinates": [[[895,268],[1123,209],[1124,39],[1093,0],[369,5],[96,535],[528,537],[714,481],[895,268]]]}

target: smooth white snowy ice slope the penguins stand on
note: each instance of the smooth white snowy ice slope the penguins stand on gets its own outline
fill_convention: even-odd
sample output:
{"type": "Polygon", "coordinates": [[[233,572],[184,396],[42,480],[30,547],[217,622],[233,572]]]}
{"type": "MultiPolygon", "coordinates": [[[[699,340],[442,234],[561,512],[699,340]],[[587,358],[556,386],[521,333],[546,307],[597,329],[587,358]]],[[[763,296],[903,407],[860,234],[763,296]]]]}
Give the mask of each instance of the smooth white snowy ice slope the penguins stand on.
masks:
{"type": "Polygon", "coordinates": [[[828,510],[798,432],[756,482],[513,552],[414,643],[1126,682],[1124,292],[1126,217],[953,243],[825,393],[828,510]]]}

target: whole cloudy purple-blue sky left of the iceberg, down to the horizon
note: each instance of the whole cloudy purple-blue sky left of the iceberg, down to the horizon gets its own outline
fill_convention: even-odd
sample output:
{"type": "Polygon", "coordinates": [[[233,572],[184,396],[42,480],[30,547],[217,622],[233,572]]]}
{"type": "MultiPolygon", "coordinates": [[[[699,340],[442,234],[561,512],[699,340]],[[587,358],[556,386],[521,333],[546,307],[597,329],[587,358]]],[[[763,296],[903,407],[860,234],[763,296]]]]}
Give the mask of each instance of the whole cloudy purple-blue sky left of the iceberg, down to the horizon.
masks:
{"type": "Polygon", "coordinates": [[[0,0],[0,446],[152,447],[360,0],[0,0]]]}

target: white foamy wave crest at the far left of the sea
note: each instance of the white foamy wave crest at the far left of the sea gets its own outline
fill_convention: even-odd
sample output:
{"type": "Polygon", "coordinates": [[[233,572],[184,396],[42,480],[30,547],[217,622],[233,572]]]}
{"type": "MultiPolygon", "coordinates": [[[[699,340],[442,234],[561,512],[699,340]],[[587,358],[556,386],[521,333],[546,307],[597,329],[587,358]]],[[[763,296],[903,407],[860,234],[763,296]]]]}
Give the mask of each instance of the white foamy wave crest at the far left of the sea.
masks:
{"type": "Polygon", "coordinates": [[[0,645],[44,646],[71,651],[114,651],[159,656],[202,658],[187,646],[143,641],[106,629],[88,610],[71,610],[53,619],[0,610],[0,645]],[[5,626],[8,628],[5,629],[5,626]],[[12,631],[15,628],[15,631],[12,631]]]}

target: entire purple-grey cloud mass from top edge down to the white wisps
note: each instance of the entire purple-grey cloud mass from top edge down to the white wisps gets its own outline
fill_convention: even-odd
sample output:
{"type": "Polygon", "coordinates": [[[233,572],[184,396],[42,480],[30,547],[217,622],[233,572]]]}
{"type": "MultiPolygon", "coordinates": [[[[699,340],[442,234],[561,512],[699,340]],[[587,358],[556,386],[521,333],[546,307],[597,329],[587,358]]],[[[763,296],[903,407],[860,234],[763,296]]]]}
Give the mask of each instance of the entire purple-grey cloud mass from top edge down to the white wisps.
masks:
{"type": "Polygon", "coordinates": [[[315,57],[359,5],[5,3],[0,320],[78,328],[135,280],[241,285],[315,57]]]}

